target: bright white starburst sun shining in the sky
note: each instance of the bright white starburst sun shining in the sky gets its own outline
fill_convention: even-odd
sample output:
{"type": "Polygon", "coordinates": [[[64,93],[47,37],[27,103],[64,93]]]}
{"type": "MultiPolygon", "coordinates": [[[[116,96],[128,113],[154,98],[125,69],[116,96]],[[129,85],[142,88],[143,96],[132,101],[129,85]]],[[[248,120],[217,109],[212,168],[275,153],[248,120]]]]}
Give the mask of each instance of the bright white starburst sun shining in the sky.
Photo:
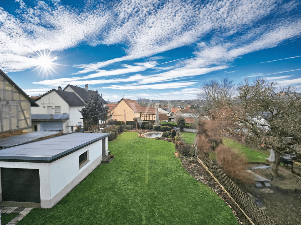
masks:
{"type": "Polygon", "coordinates": [[[34,70],[39,70],[38,76],[42,74],[42,77],[48,78],[49,75],[53,77],[52,73],[56,73],[55,68],[57,68],[57,64],[55,60],[57,60],[57,56],[53,56],[51,51],[43,50],[36,52],[37,56],[34,58],[36,68],[34,70]]]}

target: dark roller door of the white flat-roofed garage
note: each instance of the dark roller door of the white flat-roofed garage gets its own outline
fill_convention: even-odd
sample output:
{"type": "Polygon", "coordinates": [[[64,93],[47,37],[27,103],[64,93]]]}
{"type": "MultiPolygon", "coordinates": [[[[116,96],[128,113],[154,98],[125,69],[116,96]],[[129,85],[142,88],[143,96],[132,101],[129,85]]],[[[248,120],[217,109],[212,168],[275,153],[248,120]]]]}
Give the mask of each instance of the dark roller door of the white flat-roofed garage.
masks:
{"type": "Polygon", "coordinates": [[[41,202],[39,169],[1,168],[2,200],[41,202]]]}

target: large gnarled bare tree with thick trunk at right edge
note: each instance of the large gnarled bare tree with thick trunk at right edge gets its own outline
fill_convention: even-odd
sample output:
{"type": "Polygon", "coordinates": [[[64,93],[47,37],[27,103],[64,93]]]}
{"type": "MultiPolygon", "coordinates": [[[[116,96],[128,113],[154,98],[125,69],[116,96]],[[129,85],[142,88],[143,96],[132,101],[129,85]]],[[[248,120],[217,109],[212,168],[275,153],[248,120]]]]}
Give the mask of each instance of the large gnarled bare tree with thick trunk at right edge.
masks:
{"type": "Polygon", "coordinates": [[[272,173],[277,177],[281,153],[294,151],[292,146],[301,143],[300,95],[291,86],[278,89],[277,83],[269,83],[263,78],[255,79],[251,84],[245,79],[238,85],[238,91],[244,111],[237,121],[249,129],[248,137],[255,144],[273,147],[275,162],[272,163],[272,173]],[[267,131],[254,122],[256,116],[268,121],[267,131]],[[284,137],[293,137],[293,140],[284,142],[284,137]]]}

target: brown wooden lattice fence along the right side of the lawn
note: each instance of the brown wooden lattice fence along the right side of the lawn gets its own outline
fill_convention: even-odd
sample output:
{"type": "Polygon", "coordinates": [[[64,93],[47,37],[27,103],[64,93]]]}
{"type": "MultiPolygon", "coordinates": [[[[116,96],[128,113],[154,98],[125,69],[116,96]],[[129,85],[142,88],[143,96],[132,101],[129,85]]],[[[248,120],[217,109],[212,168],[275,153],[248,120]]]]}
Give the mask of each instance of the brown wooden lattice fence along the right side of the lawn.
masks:
{"type": "Polygon", "coordinates": [[[196,147],[197,156],[200,160],[208,167],[210,172],[216,177],[216,179],[222,184],[222,186],[228,191],[232,198],[237,202],[237,204],[244,210],[244,212],[250,217],[256,225],[278,225],[287,224],[285,222],[277,222],[268,217],[268,215],[262,211],[254,202],[249,198],[249,196],[242,191],[237,184],[235,184],[223,170],[215,164],[208,155],[206,155],[202,150],[196,147]]]}

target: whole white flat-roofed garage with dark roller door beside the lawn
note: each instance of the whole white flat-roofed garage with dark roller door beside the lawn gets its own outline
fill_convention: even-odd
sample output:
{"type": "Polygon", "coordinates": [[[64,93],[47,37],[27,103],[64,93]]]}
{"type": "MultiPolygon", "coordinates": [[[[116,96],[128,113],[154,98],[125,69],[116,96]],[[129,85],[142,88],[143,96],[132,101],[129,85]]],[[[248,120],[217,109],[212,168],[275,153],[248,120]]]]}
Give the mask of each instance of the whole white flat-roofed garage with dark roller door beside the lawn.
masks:
{"type": "Polygon", "coordinates": [[[72,133],[0,149],[0,200],[53,207],[108,155],[107,136],[72,133]]]}

